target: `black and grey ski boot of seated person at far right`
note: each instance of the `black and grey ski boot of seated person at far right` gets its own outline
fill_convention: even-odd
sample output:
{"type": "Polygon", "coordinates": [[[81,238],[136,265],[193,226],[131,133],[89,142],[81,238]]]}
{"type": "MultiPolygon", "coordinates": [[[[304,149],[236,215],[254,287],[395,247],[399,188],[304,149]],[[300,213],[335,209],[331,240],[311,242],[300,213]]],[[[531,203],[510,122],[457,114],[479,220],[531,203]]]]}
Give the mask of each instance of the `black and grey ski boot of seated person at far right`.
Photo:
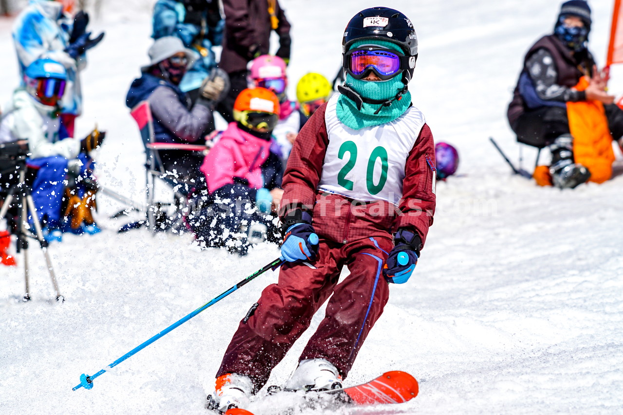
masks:
{"type": "Polygon", "coordinates": [[[573,189],[591,178],[586,167],[573,161],[573,137],[564,134],[549,146],[551,166],[549,173],[554,186],[559,189],[573,189]]]}

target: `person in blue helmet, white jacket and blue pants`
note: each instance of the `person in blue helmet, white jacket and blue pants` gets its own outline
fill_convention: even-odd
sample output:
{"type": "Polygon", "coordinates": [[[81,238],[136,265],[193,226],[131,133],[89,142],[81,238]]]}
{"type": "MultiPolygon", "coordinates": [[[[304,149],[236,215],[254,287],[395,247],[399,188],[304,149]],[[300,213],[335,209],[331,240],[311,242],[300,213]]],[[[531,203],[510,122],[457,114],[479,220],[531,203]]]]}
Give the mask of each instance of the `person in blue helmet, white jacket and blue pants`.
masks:
{"type": "MultiPolygon", "coordinates": [[[[6,108],[0,123],[0,143],[28,141],[31,153],[28,166],[37,170],[32,185],[32,199],[44,224],[44,235],[48,241],[60,241],[62,238],[60,211],[67,172],[93,179],[89,153],[105,137],[105,133],[97,130],[82,140],[69,136],[59,120],[59,103],[66,82],[67,72],[59,62],[51,59],[35,60],[24,71],[26,87],[15,90],[11,105],[6,108]]],[[[83,218],[84,223],[81,220],[73,228],[75,233],[97,233],[100,229],[90,217],[90,208],[95,204],[95,189],[83,188],[80,181],[74,193],[67,196],[77,204],[84,203],[88,216],[83,218]]],[[[69,211],[73,207],[69,206],[69,211]]]]}

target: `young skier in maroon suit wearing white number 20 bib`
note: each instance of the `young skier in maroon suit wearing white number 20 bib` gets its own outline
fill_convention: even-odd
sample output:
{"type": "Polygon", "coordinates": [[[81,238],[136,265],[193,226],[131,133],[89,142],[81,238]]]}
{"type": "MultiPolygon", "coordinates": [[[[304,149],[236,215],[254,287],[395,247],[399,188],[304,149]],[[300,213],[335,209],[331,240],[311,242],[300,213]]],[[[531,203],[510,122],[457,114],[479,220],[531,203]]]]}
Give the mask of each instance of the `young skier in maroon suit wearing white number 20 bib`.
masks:
{"type": "Polygon", "coordinates": [[[432,133],[407,90],[416,58],[416,32],[399,11],[365,9],[346,26],[346,83],[301,130],[283,178],[278,282],[240,322],[209,409],[244,407],[326,300],[285,386],[339,387],[388,282],[411,277],[435,209],[432,133]],[[338,284],[344,266],[350,275],[338,284]]]}

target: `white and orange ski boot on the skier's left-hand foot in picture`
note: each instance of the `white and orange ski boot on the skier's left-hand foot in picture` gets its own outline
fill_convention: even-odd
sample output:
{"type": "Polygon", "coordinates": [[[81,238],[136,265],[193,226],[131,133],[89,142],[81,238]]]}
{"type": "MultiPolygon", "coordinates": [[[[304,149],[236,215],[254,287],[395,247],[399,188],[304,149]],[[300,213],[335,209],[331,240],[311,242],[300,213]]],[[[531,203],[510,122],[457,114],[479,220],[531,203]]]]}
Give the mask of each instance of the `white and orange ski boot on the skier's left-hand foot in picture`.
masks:
{"type": "Polygon", "coordinates": [[[206,409],[224,413],[227,409],[245,407],[253,391],[249,376],[226,373],[216,378],[214,393],[207,396],[206,409]]]}

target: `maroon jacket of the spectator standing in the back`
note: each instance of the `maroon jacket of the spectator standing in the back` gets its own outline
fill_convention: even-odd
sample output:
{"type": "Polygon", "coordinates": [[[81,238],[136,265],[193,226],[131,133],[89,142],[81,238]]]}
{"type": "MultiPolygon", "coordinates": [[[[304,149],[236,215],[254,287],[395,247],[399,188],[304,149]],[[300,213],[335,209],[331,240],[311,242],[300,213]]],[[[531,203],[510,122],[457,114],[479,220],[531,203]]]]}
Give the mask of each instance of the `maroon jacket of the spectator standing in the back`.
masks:
{"type": "Polygon", "coordinates": [[[274,14],[280,48],[277,56],[290,59],[290,23],[277,0],[222,0],[225,33],[219,67],[225,72],[246,70],[254,55],[269,53],[272,29],[269,3],[274,1],[274,14]]]}

